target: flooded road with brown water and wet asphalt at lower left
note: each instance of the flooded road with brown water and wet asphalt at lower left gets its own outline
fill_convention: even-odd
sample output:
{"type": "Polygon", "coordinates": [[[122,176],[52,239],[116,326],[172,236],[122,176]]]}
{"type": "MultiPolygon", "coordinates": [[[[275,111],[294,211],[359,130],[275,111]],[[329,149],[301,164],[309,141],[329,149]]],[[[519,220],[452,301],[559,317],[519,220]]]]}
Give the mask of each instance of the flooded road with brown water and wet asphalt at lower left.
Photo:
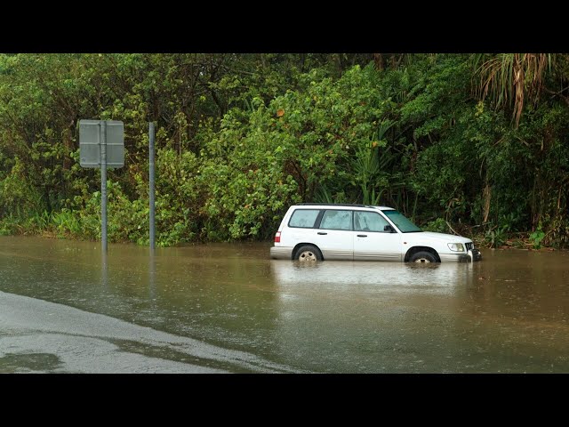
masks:
{"type": "Polygon", "coordinates": [[[0,237],[0,373],[569,372],[569,253],[269,260],[0,237]]]}

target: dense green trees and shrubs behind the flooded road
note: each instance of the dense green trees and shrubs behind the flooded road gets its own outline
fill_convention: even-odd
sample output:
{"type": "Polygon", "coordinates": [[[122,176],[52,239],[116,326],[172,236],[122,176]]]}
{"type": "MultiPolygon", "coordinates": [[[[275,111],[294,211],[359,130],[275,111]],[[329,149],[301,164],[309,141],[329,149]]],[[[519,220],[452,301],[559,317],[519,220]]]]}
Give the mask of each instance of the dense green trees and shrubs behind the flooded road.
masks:
{"type": "Polygon", "coordinates": [[[0,55],[0,234],[100,238],[80,119],[124,122],[108,238],[268,239],[301,201],[569,246],[569,55],[0,55]],[[531,234],[530,234],[531,233],[531,234]]]}

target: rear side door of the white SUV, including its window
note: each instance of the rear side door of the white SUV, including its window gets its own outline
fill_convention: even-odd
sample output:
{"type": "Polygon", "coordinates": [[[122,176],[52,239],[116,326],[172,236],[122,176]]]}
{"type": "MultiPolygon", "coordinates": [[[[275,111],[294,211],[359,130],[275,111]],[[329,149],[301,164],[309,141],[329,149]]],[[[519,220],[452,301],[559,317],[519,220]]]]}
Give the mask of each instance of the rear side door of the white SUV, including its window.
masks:
{"type": "Polygon", "coordinates": [[[314,237],[325,260],[353,260],[352,222],[352,211],[348,209],[325,210],[314,237]]]}

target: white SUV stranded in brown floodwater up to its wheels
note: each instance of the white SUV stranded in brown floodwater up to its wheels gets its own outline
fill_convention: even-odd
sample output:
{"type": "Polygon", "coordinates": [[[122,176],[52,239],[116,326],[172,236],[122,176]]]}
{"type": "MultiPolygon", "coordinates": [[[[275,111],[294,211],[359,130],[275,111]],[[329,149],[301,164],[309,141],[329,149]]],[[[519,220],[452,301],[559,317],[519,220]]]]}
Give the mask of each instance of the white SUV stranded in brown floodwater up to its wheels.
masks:
{"type": "Polygon", "coordinates": [[[392,207],[293,205],[275,235],[270,257],[324,261],[480,261],[472,240],[422,231],[392,207]]]}

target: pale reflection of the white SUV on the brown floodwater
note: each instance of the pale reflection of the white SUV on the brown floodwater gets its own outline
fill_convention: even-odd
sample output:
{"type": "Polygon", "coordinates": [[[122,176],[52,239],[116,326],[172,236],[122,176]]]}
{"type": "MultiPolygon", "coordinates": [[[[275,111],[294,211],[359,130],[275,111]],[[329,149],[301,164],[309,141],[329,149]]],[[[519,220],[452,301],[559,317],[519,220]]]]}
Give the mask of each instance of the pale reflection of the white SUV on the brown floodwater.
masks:
{"type": "Polygon", "coordinates": [[[445,372],[472,265],[273,260],[279,350],[316,372],[445,372]]]}

